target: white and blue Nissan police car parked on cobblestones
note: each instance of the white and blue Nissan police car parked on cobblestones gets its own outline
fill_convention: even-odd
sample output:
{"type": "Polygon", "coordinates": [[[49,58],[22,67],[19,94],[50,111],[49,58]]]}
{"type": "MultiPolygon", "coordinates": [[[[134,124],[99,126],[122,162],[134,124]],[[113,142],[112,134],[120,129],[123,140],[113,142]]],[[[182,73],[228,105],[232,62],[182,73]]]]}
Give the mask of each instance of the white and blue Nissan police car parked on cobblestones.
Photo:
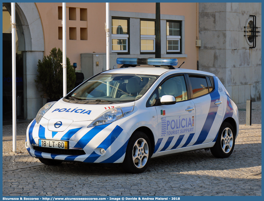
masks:
{"type": "Polygon", "coordinates": [[[197,149],[229,157],[238,109],[211,73],[174,68],[177,59],[117,58],[29,124],[26,148],[47,165],[122,163],[143,172],[150,158],[197,149]],[[158,67],[135,67],[148,64],[158,67]],[[132,66],[133,68],[126,68],[132,66]]]}

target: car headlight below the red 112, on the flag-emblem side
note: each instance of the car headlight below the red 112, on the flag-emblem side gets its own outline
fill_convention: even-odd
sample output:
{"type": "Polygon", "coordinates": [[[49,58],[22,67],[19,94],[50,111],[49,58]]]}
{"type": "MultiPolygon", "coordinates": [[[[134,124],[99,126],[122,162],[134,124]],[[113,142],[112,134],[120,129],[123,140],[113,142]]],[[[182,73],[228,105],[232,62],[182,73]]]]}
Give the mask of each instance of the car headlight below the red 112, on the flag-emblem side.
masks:
{"type": "Polygon", "coordinates": [[[93,122],[87,126],[87,128],[102,124],[110,124],[117,119],[124,117],[125,115],[131,113],[134,109],[134,105],[132,106],[124,106],[124,107],[115,107],[113,109],[106,110],[99,117],[97,117],[93,122]]]}

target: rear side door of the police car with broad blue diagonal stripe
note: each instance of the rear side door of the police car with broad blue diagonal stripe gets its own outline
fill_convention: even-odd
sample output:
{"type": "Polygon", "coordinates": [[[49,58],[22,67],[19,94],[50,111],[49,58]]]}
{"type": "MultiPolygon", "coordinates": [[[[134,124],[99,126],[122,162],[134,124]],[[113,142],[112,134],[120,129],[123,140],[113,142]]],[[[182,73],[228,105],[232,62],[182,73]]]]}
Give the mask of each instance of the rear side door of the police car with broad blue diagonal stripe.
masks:
{"type": "Polygon", "coordinates": [[[215,89],[212,77],[189,74],[192,101],[195,104],[196,128],[194,144],[211,142],[218,133],[223,112],[224,99],[215,89]]]}

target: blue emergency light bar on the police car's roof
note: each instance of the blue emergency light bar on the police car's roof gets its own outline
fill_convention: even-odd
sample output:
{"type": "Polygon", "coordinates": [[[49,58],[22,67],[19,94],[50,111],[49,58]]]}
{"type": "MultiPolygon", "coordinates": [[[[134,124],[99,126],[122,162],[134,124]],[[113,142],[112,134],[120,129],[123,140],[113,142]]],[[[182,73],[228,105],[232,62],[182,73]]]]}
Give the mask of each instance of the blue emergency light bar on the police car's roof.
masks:
{"type": "Polygon", "coordinates": [[[159,58],[117,58],[117,64],[127,65],[153,65],[153,66],[177,66],[178,59],[159,58]]]}

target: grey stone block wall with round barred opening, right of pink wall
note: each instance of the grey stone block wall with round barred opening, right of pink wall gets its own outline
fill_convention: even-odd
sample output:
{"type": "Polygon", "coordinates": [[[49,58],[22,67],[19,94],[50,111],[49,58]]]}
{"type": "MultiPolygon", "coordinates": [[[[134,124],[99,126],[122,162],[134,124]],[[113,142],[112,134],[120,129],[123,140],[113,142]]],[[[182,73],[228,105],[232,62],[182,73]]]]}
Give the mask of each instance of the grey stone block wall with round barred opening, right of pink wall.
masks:
{"type": "Polygon", "coordinates": [[[261,3],[199,3],[199,70],[214,73],[235,103],[261,100],[261,33],[249,48],[249,15],[261,27],[261,3]]]}

